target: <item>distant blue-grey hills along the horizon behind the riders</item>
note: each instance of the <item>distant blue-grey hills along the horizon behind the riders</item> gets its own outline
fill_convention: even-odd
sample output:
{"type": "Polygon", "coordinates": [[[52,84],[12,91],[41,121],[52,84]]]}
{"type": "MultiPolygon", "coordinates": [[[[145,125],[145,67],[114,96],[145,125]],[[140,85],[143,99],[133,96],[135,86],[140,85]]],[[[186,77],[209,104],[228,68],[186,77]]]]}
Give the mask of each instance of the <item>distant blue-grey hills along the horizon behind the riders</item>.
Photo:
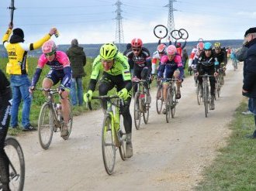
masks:
{"type": "MultiPolygon", "coordinates": [[[[209,41],[209,42],[215,43],[216,40],[209,41]]],[[[223,47],[230,46],[231,48],[237,49],[241,46],[241,44],[243,43],[243,40],[242,39],[227,39],[227,40],[220,40],[218,42],[220,42],[223,47]]],[[[163,41],[162,43],[165,43],[165,42],[163,41]]],[[[196,44],[197,44],[197,42],[195,42],[195,41],[190,41],[187,43],[186,49],[188,50],[188,53],[191,52],[193,46],[195,46],[196,44]]],[[[102,44],[81,44],[80,46],[84,47],[86,56],[94,58],[95,56],[97,56],[99,54],[99,48],[100,48],[100,46],[102,46],[102,44]]],[[[157,43],[144,43],[144,46],[147,49],[149,49],[151,55],[157,49],[157,43]]],[[[70,47],[70,45],[60,45],[60,46],[58,46],[58,49],[66,52],[69,47],[70,47]]],[[[121,47],[122,47],[121,48],[122,50],[125,49],[126,44],[122,44],[121,47]]],[[[42,53],[41,49],[36,49],[33,51],[29,51],[29,56],[38,57],[38,56],[40,56],[41,53],[42,53]]],[[[2,45],[0,46],[0,56],[7,57],[7,53],[2,45]]]]}

